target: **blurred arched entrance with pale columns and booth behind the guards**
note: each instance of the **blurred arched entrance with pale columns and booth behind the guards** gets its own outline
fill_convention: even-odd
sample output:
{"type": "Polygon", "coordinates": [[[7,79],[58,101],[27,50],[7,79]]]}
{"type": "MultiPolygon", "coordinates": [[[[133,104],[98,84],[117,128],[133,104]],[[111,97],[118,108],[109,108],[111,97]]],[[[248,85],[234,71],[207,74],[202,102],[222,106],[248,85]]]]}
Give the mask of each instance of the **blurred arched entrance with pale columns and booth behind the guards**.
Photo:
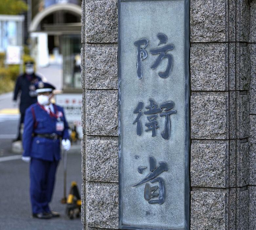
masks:
{"type": "Polygon", "coordinates": [[[29,26],[31,55],[38,67],[61,66],[62,89],[81,89],[81,14],[78,5],[54,4],[39,11],[29,26]]]}

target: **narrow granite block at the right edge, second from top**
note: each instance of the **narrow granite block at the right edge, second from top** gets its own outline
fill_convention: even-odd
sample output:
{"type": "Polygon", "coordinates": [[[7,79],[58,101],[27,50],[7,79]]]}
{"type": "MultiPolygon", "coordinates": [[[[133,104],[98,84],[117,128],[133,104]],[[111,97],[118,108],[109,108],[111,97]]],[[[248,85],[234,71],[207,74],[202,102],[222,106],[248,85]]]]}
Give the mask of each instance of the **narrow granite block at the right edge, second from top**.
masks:
{"type": "MultiPolygon", "coordinates": [[[[256,1],[255,1],[256,2],[256,1]]],[[[249,44],[250,51],[250,114],[256,114],[256,44],[249,44]]]]}

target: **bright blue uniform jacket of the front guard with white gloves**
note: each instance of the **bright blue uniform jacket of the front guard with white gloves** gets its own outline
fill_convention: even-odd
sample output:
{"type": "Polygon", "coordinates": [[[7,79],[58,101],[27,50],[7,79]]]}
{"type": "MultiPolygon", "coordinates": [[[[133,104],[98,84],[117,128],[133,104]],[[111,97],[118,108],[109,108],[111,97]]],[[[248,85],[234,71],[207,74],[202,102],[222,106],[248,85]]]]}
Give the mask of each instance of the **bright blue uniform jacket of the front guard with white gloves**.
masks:
{"type": "Polygon", "coordinates": [[[23,156],[42,159],[45,161],[60,160],[60,140],[52,140],[45,137],[32,137],[36,134],[56,133],[62,139],[69,138],[69,127],[66,121],[63,108],[53,105],[54,114],[64,122],[64,130],[56,131],[57,118],[51,116],[38,103],[31,105],[25,114],[23,132],[23,156]]]}

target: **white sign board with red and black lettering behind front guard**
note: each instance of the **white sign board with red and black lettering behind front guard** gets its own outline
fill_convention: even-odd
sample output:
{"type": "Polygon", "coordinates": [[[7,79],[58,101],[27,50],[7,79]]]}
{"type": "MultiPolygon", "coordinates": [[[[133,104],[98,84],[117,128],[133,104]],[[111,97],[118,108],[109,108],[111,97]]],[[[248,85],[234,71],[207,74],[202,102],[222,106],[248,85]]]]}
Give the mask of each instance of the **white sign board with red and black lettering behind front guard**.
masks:
{"type": "Polygon", "coordinates": [[[76,126],[79,139],[83,136],[81,116],[82,116],[82,94],[63,93],[55,96],[56,104],[64,108],[66,119],[69,125],[76,126]]]}

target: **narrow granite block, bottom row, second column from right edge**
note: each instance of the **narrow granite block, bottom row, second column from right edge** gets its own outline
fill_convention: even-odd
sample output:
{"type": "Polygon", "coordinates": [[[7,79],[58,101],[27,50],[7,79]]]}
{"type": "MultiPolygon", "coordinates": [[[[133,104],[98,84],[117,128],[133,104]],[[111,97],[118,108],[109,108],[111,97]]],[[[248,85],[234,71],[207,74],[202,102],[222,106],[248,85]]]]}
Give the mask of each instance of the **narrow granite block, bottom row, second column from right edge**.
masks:
{"type": "Polygon", "coordinates": [[[246,187],[237,188],[237,204],[236,204],[236,226],[239,230],[248,230],[248,207],[249,207],[249,191],[246,187]]]}

